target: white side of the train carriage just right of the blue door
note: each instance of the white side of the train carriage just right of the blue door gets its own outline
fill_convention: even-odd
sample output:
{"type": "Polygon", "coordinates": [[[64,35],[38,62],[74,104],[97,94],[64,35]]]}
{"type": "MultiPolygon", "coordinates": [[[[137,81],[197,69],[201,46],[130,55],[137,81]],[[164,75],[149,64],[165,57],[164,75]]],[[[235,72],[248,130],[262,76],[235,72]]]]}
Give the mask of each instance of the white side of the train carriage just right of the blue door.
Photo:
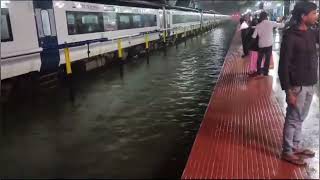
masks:
{"type": "MultiPolygon", "coordinates": [[[[157,31],[159,31],[160,23],[157,21],[159,19],[158,10],[155,9],[55,1],[54,10],[59,44],[79,43],[76,47],[70,48],[72,61],[88,58],[88,48],[90,57],[116,51],[119,38],[122,39],[122,48],[144,43],[145,37],[143,34],[147,32],[154,32],[150,34],[150,41],[159,38],[157,31]],[[126,27],[132,25],[134,21],[132,18],[142,18],[141,14],[148,18],[154,18],[154,22],[151,22],[153,24],[141,28],[126,27]],[[96,22],[100,20],[99,18],[102,18],[100,21],[103,22],[99,22],[100,25],[102,23],[102,26],[96,29],[99,32],[72,33],[71,24],[79,22],[79,19],[76,19],[75,16],[78,16],[78,18],[81,16],[82,21],[89,16],[91,16],[92,21],[96,22]],[[122,22],[121,26],[119,22],[122,22]],[[97,40],[97,42],[92,42],[92,40],[97,40]]],[[[139,21],[136,22],[139,23],[139,21]]],[[[64,64],[63,49],[60,49],[60,59],[60,64],[64,64]]]]}

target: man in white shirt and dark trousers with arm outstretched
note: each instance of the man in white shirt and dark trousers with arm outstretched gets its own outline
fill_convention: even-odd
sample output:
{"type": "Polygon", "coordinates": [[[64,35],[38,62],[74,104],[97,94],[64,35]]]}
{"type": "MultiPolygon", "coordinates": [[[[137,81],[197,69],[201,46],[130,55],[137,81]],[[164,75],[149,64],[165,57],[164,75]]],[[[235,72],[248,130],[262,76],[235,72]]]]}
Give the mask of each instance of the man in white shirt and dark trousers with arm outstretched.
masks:
{"type": "Polygon", "coordinates": [[[259,36],[259,51],[257,60],[257,74],[265,75],[269,74],[270,58],[272,55],[272,44],[273,44],[273,29],[283,28],[284,23],[277,23],[268,20],[268,14],[266,12],[260,13],[260,23],[257,25],[252,38],[259,36]],[[261,68],[262,59],[265,57],[264,66],[261,68]]]}

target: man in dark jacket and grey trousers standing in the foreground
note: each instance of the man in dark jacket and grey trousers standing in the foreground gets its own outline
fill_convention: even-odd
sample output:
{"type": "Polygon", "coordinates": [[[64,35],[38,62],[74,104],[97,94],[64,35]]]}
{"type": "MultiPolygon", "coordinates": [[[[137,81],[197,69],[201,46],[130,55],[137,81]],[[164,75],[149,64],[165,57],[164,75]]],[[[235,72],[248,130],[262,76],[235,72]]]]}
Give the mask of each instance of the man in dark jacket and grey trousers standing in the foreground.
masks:
{"type": "Polygon", "coordinates": [[[307,117],[315,84],[318,57],[316,43],[319,32],[311,29],[317,21],[317,6],[311,2],[297,3],[292,12],[292,25],[283,35],[279,60],[279,79],[286,91],[288,104],[283,129],[282,159],[305,165],[305,157],[315,153],[300,146],[302,122],[307,117]]]}

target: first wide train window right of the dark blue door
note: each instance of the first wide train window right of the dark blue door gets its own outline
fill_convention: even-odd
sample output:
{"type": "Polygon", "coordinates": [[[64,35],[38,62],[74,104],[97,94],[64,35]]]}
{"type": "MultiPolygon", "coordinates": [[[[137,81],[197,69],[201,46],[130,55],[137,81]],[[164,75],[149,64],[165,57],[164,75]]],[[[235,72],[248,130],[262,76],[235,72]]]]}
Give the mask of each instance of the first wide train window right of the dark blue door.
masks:
{"type": "Polygon", "coordinates": [[[103,15],[100,12],[67,11],[68,34],[85,34],[104,31],[103,15]]]}

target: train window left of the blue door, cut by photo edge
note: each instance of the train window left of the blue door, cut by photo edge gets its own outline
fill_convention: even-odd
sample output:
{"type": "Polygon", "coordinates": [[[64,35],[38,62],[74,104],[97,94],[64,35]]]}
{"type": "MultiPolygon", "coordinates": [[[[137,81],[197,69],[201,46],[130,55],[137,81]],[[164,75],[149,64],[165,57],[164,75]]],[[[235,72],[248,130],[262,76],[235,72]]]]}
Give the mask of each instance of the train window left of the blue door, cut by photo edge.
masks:
{"type": "Polygon", "coordinates": [[[1,8],[1,41],[13,41],[8,8],[1,8]]]}

